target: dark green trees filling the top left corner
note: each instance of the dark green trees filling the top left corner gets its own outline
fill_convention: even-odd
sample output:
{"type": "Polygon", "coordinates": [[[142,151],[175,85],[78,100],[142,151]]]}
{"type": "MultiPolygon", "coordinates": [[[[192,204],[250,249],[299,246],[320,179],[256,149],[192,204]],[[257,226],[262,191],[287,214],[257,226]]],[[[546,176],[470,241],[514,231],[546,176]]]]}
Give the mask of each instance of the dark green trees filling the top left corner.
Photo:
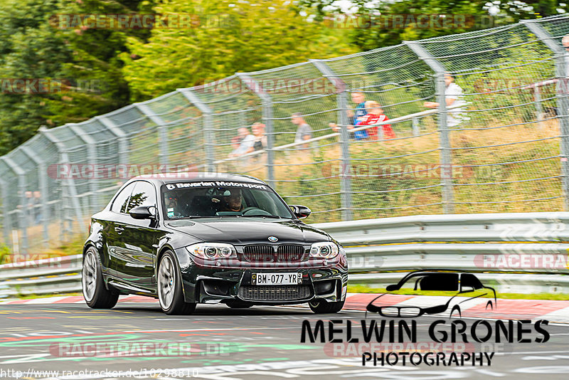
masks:
{"type": "Polygon", "coordinates": [[[139,1],[22,0],[14,6],[0,0],[0,154],[6,154],[36,133],[110,112],[129,102],[122,78],[127,34],[78,26],[60,28],[60,14],[117,14],[137,9],[139,1]],[[31,87],[16,86],[27,79],[31,87]],[[48,83],[40,88],[38,81],[48,83]],[[34,88],[33,85],[36,85],[34,88]]]}

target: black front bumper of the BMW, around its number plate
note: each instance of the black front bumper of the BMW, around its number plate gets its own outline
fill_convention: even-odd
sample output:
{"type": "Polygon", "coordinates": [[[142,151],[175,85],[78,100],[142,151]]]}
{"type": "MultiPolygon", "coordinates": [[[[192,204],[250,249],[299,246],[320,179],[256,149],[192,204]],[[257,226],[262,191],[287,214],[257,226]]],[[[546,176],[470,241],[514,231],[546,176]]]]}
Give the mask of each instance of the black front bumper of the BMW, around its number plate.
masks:
{"type": "MultiPolygon", "coordinates": [[[[183,248],[184,249],[184,248],[183,248]]],[[[176,252],[188,257],[187,251],[176,252]]],[[[192,258],[181,261],[182,283],[186,302],[217,303],[240,300],[254,305],[294,305],[309,302],[314,298],[327,302],[338,302],[346,297],[348,269],[344,258],[331,263],[314,262],[298,265],[263,265],[250,267],[239,263],[239,267],[226,265],[216,268],[201,265],[192,258]],[[252,274],[301,273],[302,283],[298,285],[252,285],[252,274]]],[[[238,265],[237,263],[233,263],[238,265]]]]}

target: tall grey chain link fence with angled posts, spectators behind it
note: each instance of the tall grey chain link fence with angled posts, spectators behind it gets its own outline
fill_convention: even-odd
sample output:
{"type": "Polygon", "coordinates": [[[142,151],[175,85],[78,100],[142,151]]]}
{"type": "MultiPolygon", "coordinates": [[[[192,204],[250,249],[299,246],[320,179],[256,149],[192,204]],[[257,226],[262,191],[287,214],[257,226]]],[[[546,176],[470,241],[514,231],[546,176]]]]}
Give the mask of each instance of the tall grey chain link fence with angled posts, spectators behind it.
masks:
{"type": "Polygon", "coordinates": [[[566,210],[567,33],[555,16],[406,42],[41,128],[0,157],[2,243],[67,241],[128,178],[165,171],[257,176],[314,222],[566,210]]]}

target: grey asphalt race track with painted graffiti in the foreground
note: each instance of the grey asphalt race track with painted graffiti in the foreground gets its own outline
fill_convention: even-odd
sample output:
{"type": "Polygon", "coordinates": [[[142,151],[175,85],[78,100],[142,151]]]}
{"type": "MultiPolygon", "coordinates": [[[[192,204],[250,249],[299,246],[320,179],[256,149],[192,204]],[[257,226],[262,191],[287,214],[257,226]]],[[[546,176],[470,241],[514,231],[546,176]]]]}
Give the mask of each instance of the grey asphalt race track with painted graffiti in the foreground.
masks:
{"type": "MultiPolygon", "coordinates": [[[[124,302],[113,310],[90,310],[82,304],[0,305],[0,378],[566,379],[569,373],[569,324],[550,323],[551,337],[543,344],[494,346],[491,366],[373,366],[372,361],[362,366],[361,352],[341,357],[331,343],[300,342],[303,320],[313,327],[324,320],[327,339],[331,319],[342,320],[336,322],[339,327],[351,320],[361,329],[365,313],[317,317],[307,307],[232,310],[198,305],[194,315],[169,317],[155,302],[124,302]],[[110,351],[94,354],[96,344],[110,351]],[[176,347],[191,349],[180,354],[176,347]]],[[[416,320],[417,342],[432,342],[427,330],[436,320],[450,323],[442,317],[416,320]]],[[[345,332],[334,337],[348,339],[345,332]]]]}

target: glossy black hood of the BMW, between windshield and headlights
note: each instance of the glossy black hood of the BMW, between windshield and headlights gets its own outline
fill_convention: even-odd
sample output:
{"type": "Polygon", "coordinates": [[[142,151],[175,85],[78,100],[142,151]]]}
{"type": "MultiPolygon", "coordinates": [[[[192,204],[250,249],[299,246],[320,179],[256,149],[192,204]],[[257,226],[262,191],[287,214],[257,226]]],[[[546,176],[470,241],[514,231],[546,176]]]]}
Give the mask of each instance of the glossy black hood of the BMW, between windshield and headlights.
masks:
{"type": "Polygon", "coordinates": [[[269,236],[275,236],[276,244],[329,241],[329,236],[317,228],[295,221],[253,221],[235,219],[208,219],[188,223],[168,223],[170,228],[187,233],[201,241],[230,243],[235,245],[269,244],[269,236]]]}

